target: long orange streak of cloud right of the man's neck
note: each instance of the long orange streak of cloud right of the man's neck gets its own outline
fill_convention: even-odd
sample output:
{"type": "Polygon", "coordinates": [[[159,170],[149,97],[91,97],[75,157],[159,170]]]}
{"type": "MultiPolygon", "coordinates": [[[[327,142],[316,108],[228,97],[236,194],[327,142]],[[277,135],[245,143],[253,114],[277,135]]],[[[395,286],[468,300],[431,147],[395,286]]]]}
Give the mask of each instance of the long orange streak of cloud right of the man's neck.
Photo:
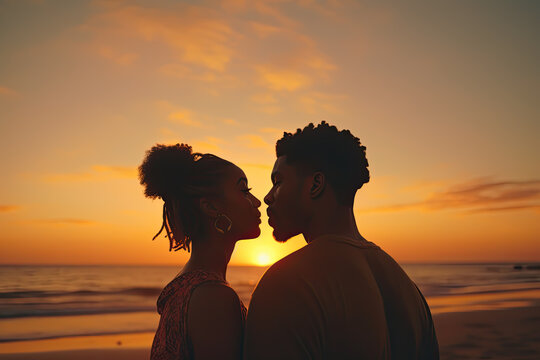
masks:
{"type": "Polygon", "coordinates": [[[392,204],[360,211],[461,210],[465,213],[479,214],[518,210],[538,211],[538,209],[540,209],[540,180],[492,181],[482,178],[434,192],[423,201],[392,204]]]}

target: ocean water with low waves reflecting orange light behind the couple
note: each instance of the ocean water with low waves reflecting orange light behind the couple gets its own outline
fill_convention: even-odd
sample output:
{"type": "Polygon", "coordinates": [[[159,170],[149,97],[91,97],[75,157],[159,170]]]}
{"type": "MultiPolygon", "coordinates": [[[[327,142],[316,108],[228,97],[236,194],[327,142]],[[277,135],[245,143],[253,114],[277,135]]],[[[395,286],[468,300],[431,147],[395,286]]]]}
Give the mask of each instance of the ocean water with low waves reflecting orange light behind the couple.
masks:
{"type": "MultiPolygon", "coordinates": [[[[527,306],[540,264],[404,264],[432,313],[527,306]]],[[[155,331],[176,266],[0,266],[0,342],[155,331]]],[[[265,267],[230,266],[246,306],[265,267]]]]}

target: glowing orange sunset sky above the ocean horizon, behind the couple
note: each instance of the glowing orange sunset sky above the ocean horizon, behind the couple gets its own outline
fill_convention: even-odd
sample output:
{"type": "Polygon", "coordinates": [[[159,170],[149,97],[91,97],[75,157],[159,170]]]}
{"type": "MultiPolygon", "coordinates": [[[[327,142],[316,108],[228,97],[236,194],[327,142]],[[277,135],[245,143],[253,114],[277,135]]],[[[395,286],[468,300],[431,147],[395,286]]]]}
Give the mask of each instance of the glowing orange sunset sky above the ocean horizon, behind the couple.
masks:
{"type": "MultiPolygon", "coordinates": [[[[0,0],[0,263],[182,264],[145,151],[226,158],[262,200],[276,140],[323,119],[367,147],[358,227],[397,261],[540,261],[539,35],[535,1],[0,0]]],[[[231,264],[303,245],[263,215],[231,264]]]]}

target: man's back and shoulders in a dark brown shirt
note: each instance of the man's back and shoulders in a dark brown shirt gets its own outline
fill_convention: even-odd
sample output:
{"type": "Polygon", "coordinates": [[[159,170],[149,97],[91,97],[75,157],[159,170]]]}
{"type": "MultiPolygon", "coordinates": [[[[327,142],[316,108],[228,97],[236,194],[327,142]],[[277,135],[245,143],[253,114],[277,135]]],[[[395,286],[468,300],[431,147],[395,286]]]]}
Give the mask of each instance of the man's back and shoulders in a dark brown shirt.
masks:
{"type": "Polygon", "coordinates": [[[272,266],[251,300],[247,359],[438,359],[429,308],[384,251],[315,239],[272,266]]]}

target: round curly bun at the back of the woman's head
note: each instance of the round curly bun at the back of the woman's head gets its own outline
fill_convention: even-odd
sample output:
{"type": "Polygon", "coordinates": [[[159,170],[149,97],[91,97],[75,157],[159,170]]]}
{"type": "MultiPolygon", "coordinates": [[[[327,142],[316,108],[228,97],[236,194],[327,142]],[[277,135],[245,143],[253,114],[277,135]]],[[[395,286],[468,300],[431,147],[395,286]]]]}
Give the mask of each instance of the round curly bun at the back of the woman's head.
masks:
{"type": "Polygon", "coordinates": [[[152,199],[178,195],[182,185],[189,180],[199,155],[194,154],[187,144],[153,146],[139,166],[139,180],[145,188],[144,194],[152,199]]]}

